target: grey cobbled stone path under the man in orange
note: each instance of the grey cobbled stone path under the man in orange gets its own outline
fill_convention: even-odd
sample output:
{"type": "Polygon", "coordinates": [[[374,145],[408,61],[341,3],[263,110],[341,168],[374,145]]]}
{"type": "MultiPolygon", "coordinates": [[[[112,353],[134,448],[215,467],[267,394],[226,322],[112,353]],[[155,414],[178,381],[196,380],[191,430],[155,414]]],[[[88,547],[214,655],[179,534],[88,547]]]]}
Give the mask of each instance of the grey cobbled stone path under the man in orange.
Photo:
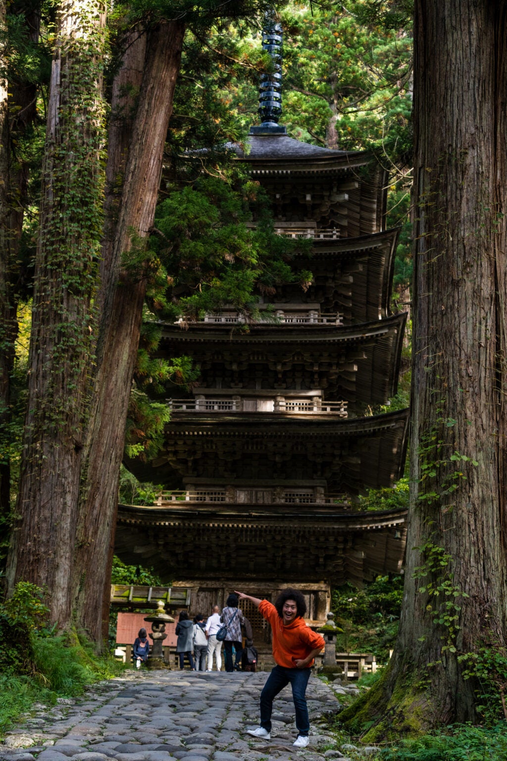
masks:
{"type": "Polygon", "coordinates": [[[267,677],[266,672],[127,672],[93,686],[83,699],[36,706],[35,716],[5,737],[0,761],[343,759],[325,721],[340,704],[315,677],[306,693],[309,747],[292,746],[297,731],[290,686],[274,703],[271,740],[245,734],[258,725],[258,696],[267,677]]]}

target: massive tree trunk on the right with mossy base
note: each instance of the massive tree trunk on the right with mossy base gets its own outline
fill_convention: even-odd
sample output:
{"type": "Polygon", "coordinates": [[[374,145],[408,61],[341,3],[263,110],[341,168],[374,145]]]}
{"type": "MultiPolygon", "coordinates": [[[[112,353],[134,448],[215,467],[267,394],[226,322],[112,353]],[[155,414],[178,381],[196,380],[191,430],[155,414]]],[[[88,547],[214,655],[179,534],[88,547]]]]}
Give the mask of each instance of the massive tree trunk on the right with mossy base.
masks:
{"type": "Polygon", "coordinates": [[[388,673],[344,715],[379,720],[369,740],[477,721],[458,656],[507,638],[506,17],[416,2],[407,568],[388,673]]]}

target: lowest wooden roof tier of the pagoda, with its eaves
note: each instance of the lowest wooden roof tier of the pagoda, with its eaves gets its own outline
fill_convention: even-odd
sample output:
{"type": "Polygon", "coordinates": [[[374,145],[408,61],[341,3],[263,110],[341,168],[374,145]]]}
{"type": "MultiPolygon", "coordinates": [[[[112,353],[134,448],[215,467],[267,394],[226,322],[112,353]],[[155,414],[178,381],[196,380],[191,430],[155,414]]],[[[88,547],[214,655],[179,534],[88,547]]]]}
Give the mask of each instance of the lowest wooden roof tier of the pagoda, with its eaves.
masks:
{"type": "Polygon", "coordinates": [[[231,581],[326,578],[361,585],[401,571],[406,510],[331,511],[316,520],[311,511],[284,507],[280,513],[259,505],[208,511],[119,505],[115,552],[163,576],[175,578],[184,568],[188,579],[205,573],[231,581]]]}

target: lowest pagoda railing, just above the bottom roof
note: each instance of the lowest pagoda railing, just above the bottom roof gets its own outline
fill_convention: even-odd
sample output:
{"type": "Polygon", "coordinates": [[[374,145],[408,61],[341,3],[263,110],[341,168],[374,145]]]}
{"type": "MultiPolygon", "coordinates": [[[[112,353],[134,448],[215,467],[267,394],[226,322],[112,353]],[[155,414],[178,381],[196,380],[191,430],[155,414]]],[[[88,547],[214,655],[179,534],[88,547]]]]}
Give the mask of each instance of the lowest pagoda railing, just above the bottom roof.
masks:
{"type": "MultiPolygon", "coordinates": [[[[255,491],[255,490],[252,490],[255,491]]],[[[266,497],[266,491],[263,490],[264,498],[262,501],[252,498],[252,502],[258,505],[347,505],[348,498],[344,494],[336,495],[315,495],[309,491],[297,491],[289,490],[282,492],[278,495],[273,495],[272,498],[266,497]]],[[[189,489],[185,490],[171,490],[163,491],[157,495],[156,501],[153,505],[148,505],[153,508],[160,508],[164,505],[174,505],[178,502],[207,502],[212,503],[239,503],[243,500],[239,500],[234,490],[223,489],[189,489]]],[[[247,500],[250,502],[250,500],[247,500]]]]}

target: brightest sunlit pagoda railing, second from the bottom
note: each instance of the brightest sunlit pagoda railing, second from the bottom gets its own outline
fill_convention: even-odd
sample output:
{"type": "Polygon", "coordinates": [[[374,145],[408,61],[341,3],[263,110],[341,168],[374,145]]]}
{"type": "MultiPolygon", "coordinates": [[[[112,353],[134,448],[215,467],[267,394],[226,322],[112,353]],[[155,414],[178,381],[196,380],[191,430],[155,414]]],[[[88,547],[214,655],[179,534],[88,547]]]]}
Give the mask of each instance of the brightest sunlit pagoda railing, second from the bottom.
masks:
{"type": "Polygon", "coordinates": [[[277,412],[282,415],[308,414],[347,417],[347,402],[316,402],[312,399],[243,400],[239,399],[168,399],[173,412],[277,412]],[[258,403],[258,406],[257,406],[258,403]],[[272,403],[272,406],[271,406],[272,403]]]}

